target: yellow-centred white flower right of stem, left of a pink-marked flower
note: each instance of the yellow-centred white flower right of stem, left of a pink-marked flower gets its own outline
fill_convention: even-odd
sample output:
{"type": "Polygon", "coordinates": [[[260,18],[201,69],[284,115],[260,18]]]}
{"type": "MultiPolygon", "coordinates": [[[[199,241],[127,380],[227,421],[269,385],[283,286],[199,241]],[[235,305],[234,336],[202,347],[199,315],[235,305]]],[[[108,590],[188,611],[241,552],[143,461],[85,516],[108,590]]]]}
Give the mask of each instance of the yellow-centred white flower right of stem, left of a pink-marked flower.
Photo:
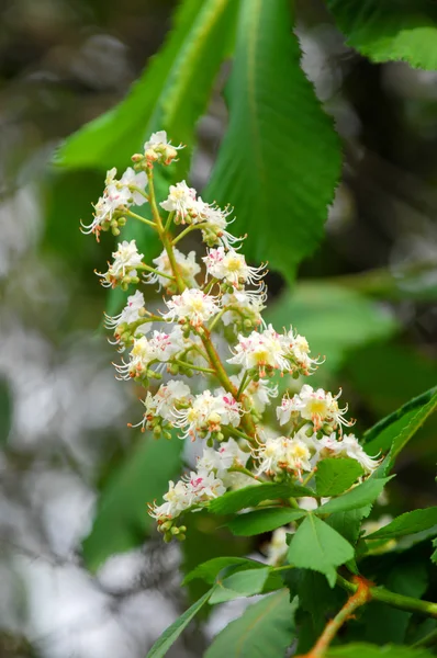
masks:
{"type": "Polygon", "coordinates": [[[243,365],[245,368],[259,367],[260,373],[265,367],[290,370],[290,364],[284,358],[280,336],[271,325],[262,332],[253,331],[247,338],[238,334],[234,356],[227,363],[243,365]]]}

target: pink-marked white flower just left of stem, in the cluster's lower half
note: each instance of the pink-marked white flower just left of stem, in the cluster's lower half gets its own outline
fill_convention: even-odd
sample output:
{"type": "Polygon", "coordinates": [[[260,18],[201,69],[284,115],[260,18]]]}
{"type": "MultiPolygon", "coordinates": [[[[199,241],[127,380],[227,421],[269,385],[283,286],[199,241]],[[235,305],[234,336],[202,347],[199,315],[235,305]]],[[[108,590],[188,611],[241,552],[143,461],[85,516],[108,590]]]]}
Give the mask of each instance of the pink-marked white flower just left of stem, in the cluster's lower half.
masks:
{"type": "Polygon", "coordinates": [[[240,405],[228,393],[213,395],[204,390],[195,396],[188,409],[175,411],[173,424],[184,430],[182,438],[209,439],[220,433],[222,426],[238,427],[242,416],[240,405]]]}

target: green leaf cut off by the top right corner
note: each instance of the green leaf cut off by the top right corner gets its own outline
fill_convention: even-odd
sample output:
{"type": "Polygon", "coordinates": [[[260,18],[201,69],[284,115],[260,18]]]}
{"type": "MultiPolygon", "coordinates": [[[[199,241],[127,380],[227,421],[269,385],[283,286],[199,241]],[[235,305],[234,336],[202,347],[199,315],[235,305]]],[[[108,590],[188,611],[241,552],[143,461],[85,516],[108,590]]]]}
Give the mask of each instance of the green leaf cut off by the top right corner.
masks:
{"type": "Polygon", "coordinates": [[[427,0],[327,0],[347,45],[373,61],[437,69],[437,8],[427,0]]]}

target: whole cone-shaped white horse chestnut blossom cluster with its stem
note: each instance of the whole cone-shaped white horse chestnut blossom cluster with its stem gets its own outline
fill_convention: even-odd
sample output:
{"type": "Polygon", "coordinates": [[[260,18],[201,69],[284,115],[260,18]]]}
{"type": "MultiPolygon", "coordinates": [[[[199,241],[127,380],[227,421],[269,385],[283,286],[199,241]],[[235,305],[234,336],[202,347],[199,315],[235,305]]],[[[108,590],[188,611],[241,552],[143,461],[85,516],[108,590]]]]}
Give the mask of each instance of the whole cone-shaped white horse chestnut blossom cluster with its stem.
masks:
{"type": "MultiPolygon", "coordinates": [[[[164,502],[149,506],[166,541],[183,540],[188,513],[226,491],[303,484],[306,496],[323,460],[356,461],[362,475],[352,486],[380,463],[344,433],[352,421],[347,405],[338,404],[341,392],[302,382],[324,362],[311,355],[306,338],[262,318],[266,266],[247,262],[244,238],[229,232],[229,207],[206,203],[183,180],[173,180],[167,197],[157,198],[154,168],[170,167],[180,148],[164,131],[154,133],[119,180],[115,169],[108,172],[93,220],[82,225],[99,240],[107,230],[132,236],[131,223],[139,222],[161,242],[147,263],[141,250],[148,236],[123,239],[108,272],[98,276],[105,287],[128,291],[125,307],[107,316],[105,325],[122,353],[117,378],[145,389],[143,418],[131,427],[149,432],[148,440],[179,438],[203,450],[195,470],[170,481],[164,502]],[[136,214],[133,206],[143,205],[136,214]],[[152,286],[161,291],[164,309],[152,286]]],[[[320,504],[315,494],[310,499],[320,504]]]]}

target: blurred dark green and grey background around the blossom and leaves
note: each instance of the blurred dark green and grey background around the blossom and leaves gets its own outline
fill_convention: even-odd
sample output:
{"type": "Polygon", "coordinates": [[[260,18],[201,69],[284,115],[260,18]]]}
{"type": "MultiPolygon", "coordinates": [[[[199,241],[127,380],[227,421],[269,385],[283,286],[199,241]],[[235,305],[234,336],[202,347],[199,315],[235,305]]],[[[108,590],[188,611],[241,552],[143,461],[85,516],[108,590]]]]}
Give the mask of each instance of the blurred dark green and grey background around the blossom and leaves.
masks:
{"type": "MultiPolygon", "coordinates": [[[[65,137],[128,91],[173,8],[0,4],[2,658],[145,656],[202,591],[198,582],[181,589],[181,565],[214,552],[260,556],[268,538],[236,542],[197,514],[186,544],[166,546],[142,521],[159,464],[126,428],[139,392],[115,382],[101,331],[105,291],[93,269],[104,268],[112,242],[79,231],[102,173],[51,163],[65,137]],[[100,530],[83,544],[98,513],[100,530]]],[[[343,387],[362,430],[437,383],[437,72],[370,64],[344,45],[318,0],[298,4],[298,25],[303,68],[335,118],[345,164],[326,237],[293,291],[269,274],[271,317],[328,356],[320,382],[343,387]]],[[[228,68],[198,126],[190,178],[200,190],[226,127],[228,68]]],[[[432,420],[417,434],[377,517],[436,504],[436,432],[432,420]]],[[[237,611],[217,609],[169,655],[200,656],[237,611]]]]}

